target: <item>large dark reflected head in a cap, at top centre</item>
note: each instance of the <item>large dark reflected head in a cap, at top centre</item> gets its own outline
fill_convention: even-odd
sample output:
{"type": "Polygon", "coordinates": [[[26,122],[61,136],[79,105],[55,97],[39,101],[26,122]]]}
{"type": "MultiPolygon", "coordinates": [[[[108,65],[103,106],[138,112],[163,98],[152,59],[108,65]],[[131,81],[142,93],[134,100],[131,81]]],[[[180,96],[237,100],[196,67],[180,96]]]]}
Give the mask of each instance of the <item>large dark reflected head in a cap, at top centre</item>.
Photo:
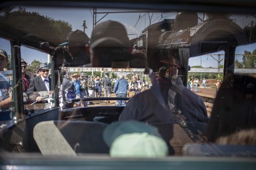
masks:
{"type": "Polygon", "coordinates": [[[93,67],[112,67],[112,62],[128,62],[131,56],[126,29],[117,21],[104,21],[94,28],[90,49],[93,67]]]}

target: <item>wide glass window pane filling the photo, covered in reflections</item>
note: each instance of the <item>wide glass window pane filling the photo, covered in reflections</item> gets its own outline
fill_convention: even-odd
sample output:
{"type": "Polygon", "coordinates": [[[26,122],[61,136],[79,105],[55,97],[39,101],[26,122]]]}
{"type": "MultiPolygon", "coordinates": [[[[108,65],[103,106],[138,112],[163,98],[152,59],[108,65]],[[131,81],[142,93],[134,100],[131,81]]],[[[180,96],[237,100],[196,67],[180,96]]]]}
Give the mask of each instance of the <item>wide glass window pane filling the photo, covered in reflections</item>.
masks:
{"type": "Polygon", "coordinates": [[[0,14],[1,157],[255,158],[254,13],[0,14]]]}

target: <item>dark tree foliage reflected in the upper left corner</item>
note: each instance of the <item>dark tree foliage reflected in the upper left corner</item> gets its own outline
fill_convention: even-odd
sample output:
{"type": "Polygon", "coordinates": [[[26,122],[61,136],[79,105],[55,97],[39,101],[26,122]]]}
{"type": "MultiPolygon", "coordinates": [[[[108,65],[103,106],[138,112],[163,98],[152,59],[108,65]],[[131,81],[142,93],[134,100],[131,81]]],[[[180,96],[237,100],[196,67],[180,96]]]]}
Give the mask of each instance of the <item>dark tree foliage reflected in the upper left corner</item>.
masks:
{"type": "Polygon", "coordinates": [[[6,23],[6,26],[17,28],[19,31],[30,32],[54,46],[66,41],[67,35],[72,30],[72,26],[65,21],[56,21],[37,12],[26,12],[24,8],[14,12],[8,10],[2,15],[0,23],[6,23]]]}

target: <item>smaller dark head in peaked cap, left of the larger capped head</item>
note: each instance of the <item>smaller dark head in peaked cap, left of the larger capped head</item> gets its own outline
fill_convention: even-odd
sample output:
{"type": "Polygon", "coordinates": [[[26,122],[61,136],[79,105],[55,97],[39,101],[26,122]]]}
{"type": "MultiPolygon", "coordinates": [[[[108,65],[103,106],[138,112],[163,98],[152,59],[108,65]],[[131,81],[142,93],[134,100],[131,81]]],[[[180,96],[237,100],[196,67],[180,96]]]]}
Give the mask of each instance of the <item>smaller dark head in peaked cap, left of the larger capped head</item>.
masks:
{"type": "Polygon", "coordinates": [[[69,53],[73,57],[70,67],[78,67],[90,63],[89,41],[90,38],[86,33],[76,30],[69,32],[67,42],[60,44],[60,46],[67,45],[69,47],[69,53]]]}

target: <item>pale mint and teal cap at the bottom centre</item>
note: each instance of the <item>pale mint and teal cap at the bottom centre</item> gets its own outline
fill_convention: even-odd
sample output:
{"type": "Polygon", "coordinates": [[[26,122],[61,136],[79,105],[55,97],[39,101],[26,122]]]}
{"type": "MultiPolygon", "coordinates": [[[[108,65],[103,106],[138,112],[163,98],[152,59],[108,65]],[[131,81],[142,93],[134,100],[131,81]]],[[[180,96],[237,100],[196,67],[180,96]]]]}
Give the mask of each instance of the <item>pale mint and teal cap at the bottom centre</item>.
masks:
{"type": "Polygon", "coordinates": [[[103,133],[112,157],[164,157],[168,146],[157,127],[139,121],[114,122],[103,133]]]}

